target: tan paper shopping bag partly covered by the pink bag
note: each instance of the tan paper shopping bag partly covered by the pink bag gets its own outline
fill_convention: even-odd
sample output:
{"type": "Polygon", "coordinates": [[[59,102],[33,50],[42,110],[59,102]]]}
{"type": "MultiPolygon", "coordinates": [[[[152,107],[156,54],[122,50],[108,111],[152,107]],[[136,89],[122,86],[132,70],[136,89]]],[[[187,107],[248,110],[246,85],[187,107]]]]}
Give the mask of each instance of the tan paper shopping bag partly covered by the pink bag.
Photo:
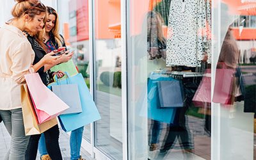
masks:
{"type": "Polygon", "coordinates": [[[24,129],[25,129],[26,136],[40,134],[42,132],[47,131],[54,125],[57,125],[58,122],[56,118],[52,118],[47,122],[38,124],[33,102],[31,102],[31,98],[29,95],[28,86],[24,84],[20,87],[21,87],[20,91],[21,91],[22,116],[23,116],[24,129]]]}

